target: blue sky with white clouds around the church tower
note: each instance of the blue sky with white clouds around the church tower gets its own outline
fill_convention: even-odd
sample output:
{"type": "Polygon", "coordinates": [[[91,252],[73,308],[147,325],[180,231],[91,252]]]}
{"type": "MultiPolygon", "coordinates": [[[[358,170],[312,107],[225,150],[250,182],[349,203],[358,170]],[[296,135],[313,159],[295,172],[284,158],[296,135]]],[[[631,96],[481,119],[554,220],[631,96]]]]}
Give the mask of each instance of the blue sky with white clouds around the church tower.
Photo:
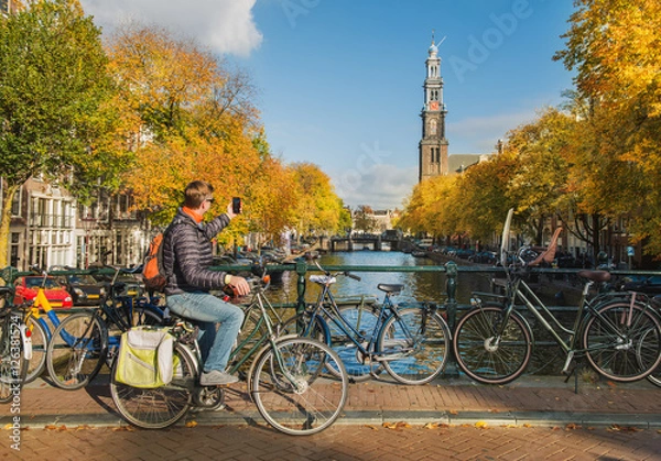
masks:
{"type": "Polygon", "coordinates": [[[572,0],[82,0],[195,36],[252,77],[274,154],[312,162],[350,206],[402,207],[418,182],[424,62],[435,31],[449,154],[490,153],[562,102],[553,54],[572,0]]]}

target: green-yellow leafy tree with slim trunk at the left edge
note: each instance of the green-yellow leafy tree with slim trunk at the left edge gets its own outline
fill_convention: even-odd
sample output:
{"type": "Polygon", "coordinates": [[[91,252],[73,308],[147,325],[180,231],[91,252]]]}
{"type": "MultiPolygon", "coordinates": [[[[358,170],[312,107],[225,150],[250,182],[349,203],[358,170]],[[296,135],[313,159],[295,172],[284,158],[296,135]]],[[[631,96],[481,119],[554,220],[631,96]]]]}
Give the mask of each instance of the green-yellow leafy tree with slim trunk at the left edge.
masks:
{"type": "MultiPolygon", "coordinates": [[[[85,199],[97,182],[116,184],[112,81],[100,31],[77,0],[39,0],[0,18],[0,172],[6,190],[0,248],[11,200],[28,178],[64,182],[85,199]]],[[[0,266],[7,252],[0,251],[0,266]]]]}

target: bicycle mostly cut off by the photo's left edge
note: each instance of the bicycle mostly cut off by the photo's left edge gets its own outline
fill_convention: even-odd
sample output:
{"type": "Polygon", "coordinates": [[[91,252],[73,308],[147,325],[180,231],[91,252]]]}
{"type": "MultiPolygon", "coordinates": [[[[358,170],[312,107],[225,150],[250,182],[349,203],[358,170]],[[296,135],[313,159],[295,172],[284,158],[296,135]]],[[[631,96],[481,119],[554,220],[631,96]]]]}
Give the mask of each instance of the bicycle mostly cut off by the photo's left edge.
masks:
{"type": "Polygon", "coordinates": [[[12,287],[0,287],[0,403],[20,395],[32,358],[30,331],[25,325],[26,305],[14,306],[12,287]]]}

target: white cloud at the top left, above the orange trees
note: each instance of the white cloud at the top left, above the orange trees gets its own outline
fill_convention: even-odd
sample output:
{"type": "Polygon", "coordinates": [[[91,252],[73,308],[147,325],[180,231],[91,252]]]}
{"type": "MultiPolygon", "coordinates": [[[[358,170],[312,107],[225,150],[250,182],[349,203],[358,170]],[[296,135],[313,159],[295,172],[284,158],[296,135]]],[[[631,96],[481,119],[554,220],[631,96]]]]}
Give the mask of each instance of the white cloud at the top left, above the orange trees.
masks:
{"type": "Polygon", "coordinates": [[[111,32],[127,20],[196,37],[220,54],[247,56],[262,42],[252,18],[257,0],[82,0],[95,23],[111,32]]]}

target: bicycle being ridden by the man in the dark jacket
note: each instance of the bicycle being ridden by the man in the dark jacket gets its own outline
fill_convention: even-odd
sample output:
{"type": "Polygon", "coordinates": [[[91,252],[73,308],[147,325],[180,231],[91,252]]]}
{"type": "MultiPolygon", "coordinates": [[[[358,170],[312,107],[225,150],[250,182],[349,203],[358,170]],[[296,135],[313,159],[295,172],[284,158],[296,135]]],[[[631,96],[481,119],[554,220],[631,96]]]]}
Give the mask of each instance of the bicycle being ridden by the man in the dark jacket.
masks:
{"type": "MultiPolygon", "coordinates": [[[[264,420],[288,435],[319,432],[342,414],[348,392],[346,372],[326,344],[311,338],[278,336],[263,303],[268,285],[269,279],[262,277],[256,289],[256,303],[251,304],[259,309],[252,310],[259,311],[259,319],[246,316],[243,337],[230,354],[228,373],[237,373],[253,358],[248,373],[240,374],[264,420]],[[336,380],[329,380],[330,366],[340,375],[339,386],[336,380]]],[[[127,421],[145,429],[172,426],[191,407],[214,409],[224,399],[221,387],[199,384],[201,352],[195,329],[183,320],[165,328],[174,337],[175,367],[170,384],[156,388],[132,387],[118,383],[112,370],[112,402],[127,421]]]]}

